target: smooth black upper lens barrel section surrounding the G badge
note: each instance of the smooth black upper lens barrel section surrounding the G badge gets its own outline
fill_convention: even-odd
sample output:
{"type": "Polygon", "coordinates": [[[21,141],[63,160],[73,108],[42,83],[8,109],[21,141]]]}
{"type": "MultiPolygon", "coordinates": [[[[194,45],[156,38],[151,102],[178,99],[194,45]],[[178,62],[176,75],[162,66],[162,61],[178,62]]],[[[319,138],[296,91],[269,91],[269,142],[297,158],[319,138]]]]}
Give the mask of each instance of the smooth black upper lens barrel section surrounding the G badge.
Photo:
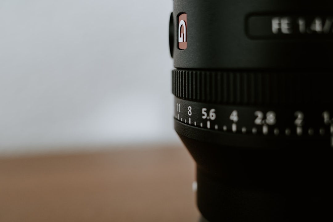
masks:
{"type": "MultiPolygon", "coordinates": [[[[176,44],[173,46],[176,68],[279,70],[333,66],[333,41],[323,40],[324,33],[304,34],[314,36],[310,39],[252,39],[246,33],[250,15],[311,15],[313,19],[324,16],[324,23],[327,16],[333,16],[333,1],[174,0],[173,3],[175,42],[177,16],[187,14],[187,49],[178,50],[176,44]]],[[[311,23],[308,22],[307,28],[311,23]]]]}

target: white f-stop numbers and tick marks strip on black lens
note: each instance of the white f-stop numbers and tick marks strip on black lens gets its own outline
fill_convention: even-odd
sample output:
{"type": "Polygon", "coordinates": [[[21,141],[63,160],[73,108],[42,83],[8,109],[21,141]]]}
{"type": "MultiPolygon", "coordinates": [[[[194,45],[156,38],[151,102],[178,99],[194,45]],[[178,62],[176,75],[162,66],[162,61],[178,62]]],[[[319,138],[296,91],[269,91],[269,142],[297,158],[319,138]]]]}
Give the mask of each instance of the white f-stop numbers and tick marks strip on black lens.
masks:
{"type": "Polygon", "coordinates": [[[330,135],[330,145],[333,147],[333,111],[320,110],[318,108],[315,114],[306,115],[302,109],[275,111],[267,108],[204,104],[175,98],[174,117],[188,125],[231,133],[288,137],[330,135]]]}

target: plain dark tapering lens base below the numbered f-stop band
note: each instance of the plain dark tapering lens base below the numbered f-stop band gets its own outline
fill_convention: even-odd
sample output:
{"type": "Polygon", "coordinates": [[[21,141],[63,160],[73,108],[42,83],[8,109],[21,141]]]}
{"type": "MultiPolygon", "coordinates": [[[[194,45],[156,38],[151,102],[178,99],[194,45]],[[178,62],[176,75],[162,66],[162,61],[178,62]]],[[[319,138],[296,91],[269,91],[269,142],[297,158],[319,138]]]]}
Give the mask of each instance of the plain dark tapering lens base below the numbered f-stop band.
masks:
{"type": "Polygon", "coordinates": [[[209,222],[332,219],[333,150],[244,149],[180,138],[197,163],[197,204],[209,222]]]}

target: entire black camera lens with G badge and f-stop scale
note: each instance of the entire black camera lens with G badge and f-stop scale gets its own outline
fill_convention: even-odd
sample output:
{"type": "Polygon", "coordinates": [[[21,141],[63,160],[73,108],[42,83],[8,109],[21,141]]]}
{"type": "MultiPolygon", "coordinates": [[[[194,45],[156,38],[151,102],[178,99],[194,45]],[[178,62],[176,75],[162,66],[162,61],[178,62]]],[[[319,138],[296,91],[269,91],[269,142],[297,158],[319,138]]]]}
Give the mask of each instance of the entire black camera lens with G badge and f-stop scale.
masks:
{"type": "Polygon", "coordinates": [[[333,220],[333,1],[174,0],[169,38],[202,216],[333,220]]]}

